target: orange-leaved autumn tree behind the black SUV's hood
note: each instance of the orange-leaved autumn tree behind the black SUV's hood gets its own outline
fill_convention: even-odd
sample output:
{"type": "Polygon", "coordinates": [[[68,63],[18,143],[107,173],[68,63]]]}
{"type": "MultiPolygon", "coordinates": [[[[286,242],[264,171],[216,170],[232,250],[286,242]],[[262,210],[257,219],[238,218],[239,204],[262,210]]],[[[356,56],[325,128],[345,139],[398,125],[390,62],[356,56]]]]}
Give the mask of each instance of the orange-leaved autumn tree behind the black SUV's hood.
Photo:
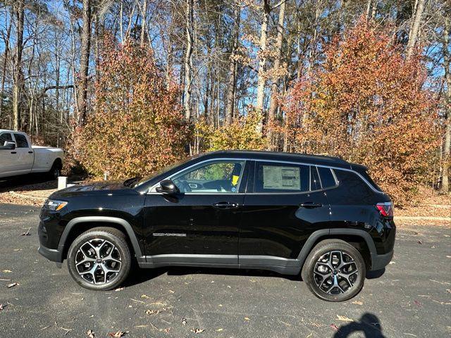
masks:
{"type": "Polygon", "coordinates": [[[99,73],[94,112],[75,134],[74,157],[89,173],[144,176],[186,156],[178,88],[166,86],[149,49],[107,39],[99,73]]]}

